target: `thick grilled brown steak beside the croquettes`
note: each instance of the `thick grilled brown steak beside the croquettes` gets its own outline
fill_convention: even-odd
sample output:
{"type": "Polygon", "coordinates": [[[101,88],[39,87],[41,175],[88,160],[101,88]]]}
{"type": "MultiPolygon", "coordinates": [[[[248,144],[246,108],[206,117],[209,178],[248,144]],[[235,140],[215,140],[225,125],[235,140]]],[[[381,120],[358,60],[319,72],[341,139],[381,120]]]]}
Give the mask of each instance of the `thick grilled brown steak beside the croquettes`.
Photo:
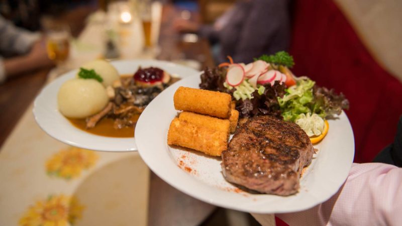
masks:
{"type": "Polygon", "coordinates": [[[313,158],[307,134],[295,123],[257,116],[243,124],[222,152],[227,181],[267,194],[298,191],[300,173],[313,158]]]}

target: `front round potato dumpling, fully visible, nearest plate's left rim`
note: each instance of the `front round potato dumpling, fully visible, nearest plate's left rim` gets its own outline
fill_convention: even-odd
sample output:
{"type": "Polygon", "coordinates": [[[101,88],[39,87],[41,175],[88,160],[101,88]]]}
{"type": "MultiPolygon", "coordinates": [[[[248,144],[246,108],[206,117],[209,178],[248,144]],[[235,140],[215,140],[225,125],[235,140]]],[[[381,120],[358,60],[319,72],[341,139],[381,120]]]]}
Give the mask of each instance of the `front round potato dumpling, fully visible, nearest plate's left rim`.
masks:
{"type": "Polygon", "coordinates": [[[102,110],[109,98],[105,87],[95,79],[75,78],[64,82],[57,94],[61,114],[83,119],[102,110]]]}

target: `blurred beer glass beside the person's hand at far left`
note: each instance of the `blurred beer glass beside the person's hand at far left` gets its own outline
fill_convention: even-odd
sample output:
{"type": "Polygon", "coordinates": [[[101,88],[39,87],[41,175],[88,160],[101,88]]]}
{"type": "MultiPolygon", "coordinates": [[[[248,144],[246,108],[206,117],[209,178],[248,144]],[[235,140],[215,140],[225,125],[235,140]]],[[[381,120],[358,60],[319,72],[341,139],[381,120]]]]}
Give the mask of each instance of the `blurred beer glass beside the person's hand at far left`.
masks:
{"type": "Polygon", "coordinates": [[[57,65],[65,62],[70,53],[70,28],[66,24],[48,24],[46,30],[46,50],[49,59],[57,65]]]}

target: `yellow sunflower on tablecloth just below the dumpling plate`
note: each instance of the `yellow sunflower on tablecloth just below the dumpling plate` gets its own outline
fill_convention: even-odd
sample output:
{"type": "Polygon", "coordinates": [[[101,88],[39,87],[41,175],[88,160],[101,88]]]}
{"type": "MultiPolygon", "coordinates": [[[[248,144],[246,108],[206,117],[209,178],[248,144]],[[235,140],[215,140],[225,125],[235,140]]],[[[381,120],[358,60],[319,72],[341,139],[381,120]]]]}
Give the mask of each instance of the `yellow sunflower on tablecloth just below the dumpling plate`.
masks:
{"type": "Polygon", "coordinates": [[[98,159],[94,151],[69,147],[54,154],[46,162],[46,172],[50,176],[64,179],[79,177],[81,171],[93,166],[98,159]]]}

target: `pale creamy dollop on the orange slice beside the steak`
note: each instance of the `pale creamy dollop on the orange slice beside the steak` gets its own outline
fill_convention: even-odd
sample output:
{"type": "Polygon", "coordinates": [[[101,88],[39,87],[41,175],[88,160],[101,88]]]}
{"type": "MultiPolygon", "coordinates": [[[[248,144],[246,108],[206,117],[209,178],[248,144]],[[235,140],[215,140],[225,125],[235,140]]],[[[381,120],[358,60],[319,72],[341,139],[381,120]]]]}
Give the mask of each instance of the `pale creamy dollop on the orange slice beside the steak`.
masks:
{"type": "Polygon", "coordinates": [[[317,114],[310,115],[310,112],[300,114],[295,123],[302,128],[309,137],[319,136],[324,131],[324,120],[317,114]]]}

